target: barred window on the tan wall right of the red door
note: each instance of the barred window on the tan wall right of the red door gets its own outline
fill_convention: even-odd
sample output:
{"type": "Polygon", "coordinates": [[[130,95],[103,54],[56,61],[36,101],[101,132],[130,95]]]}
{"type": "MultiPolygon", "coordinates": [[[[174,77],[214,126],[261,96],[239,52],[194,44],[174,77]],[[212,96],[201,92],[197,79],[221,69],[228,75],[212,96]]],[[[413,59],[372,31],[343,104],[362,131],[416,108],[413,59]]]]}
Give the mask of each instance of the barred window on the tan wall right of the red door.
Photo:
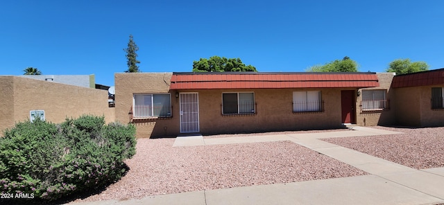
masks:
{"type": "Polygon", "coordinates": [[[386,90],[363,90],[362,110],[383,110],[387,108],[386,90]]]}

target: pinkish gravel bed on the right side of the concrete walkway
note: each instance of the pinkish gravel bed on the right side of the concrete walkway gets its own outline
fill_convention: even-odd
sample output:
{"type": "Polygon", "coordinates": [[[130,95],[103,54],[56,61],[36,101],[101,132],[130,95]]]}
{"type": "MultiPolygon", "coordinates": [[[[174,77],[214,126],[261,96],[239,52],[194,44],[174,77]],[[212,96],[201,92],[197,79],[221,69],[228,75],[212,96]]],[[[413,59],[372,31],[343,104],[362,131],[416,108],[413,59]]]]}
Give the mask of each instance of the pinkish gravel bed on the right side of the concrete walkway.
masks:
{"type": "Polygon", "coordinates": [[[323,141],[411,168],[444,167],[444,127],[412,129],[377,126],[374,128],[404,132],[404,134],[332,138],[323,141]]]}

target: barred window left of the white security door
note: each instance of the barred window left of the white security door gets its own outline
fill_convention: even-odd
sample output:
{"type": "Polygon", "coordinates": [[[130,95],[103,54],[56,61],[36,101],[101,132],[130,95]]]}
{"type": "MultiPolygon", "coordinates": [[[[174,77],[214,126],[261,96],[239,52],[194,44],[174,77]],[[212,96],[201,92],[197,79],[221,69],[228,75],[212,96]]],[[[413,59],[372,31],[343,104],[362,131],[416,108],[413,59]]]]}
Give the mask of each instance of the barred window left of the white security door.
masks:
{"type": "Polygon", "coordinates": [[[171,117],[171,97],[165,94],[135,94],[134,118],[171,117]]]}

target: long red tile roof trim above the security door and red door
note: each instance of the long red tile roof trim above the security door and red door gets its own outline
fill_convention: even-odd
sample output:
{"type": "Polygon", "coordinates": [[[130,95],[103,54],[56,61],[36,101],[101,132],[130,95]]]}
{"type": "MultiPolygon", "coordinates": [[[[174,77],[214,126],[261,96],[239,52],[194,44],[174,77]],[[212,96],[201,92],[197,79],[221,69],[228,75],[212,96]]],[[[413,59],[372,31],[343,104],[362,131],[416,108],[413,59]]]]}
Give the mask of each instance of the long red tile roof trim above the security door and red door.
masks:
{"type": "Polygon", "coordinates": [[[375,73],[173,73],[170,89],[378,87],[375,73]]]}

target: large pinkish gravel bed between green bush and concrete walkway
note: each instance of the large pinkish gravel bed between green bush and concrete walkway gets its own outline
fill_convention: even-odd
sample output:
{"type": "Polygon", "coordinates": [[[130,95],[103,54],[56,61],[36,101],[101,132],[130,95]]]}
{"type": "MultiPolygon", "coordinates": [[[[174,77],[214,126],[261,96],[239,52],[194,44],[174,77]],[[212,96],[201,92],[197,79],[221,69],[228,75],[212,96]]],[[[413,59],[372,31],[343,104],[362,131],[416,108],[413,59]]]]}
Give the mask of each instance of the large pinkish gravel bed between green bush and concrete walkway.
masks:
{"type": "Polygon", "coordinates": [[[175,139],[138,139],[127,175],[74,202],[366,175],[290,141],[173,148],[175,139]]]}

